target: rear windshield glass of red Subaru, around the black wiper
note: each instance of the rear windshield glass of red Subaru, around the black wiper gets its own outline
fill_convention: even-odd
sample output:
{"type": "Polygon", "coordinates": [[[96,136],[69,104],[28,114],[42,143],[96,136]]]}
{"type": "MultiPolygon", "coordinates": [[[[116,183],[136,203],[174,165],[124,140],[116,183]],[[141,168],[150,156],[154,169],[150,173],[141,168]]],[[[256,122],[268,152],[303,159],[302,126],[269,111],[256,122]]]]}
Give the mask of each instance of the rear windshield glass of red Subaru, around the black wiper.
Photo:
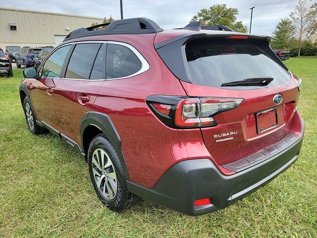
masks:
{"type": "MultiPolygon", "coordinates": [[[[291,78],[288,71],[248,40],[197,39],[189,42],[185,51],[194,84],[221,87],[222,83],[231,81],[272,77],[268,86],[276,86],[291,78]]],[[[259,86],[221,88],[253,89],[259,86]]]]}

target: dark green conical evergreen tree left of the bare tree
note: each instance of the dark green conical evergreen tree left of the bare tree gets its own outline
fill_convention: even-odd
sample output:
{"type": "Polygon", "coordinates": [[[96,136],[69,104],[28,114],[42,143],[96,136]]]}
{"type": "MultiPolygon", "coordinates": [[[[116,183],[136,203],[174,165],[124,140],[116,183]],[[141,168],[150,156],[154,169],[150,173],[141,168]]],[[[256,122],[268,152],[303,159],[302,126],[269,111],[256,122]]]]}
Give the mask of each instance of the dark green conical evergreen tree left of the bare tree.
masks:
{"type": "Polygon", "coordinates": [[[273,49],[289,49],[294,42],[296,28],[288,18],[281,19],[272,33],[271,47],[273,49]]]}

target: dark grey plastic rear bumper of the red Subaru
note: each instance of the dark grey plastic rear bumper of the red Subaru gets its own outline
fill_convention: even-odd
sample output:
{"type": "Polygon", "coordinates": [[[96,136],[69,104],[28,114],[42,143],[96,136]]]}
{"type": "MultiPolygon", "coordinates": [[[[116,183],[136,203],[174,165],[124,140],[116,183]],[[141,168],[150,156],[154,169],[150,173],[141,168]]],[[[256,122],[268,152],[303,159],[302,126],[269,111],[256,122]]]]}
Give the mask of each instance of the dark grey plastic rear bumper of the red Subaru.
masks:
{"type": "Polygon", "coordinates": [[[209,159],[182,161],[171,167],[158,183],[147,188],[127,181],[128,189],[147,200],[183,214],[195,216],[225,208],[275,179],[298,158],[304,135],[285,150],[232,176],[222,175],[209,159]],[[211,198],[211,205],[195,207],[198,199],[211,198]]]}

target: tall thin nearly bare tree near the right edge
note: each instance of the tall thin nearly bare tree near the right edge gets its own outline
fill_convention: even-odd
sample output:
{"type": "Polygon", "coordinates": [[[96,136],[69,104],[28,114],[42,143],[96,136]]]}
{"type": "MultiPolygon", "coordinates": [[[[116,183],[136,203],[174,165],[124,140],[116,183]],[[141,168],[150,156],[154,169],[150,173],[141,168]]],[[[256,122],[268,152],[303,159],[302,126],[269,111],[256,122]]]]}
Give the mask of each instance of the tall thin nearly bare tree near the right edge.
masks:
{"type": "Polygon", "coordinates": [[[296,28],[298,38],[298,54],[301,54],[302,40],[307,35],[311,25],[309,9],[306,7],[307,0],[299,0],[295,10],[290,13],[290,18],[296,28]]]}

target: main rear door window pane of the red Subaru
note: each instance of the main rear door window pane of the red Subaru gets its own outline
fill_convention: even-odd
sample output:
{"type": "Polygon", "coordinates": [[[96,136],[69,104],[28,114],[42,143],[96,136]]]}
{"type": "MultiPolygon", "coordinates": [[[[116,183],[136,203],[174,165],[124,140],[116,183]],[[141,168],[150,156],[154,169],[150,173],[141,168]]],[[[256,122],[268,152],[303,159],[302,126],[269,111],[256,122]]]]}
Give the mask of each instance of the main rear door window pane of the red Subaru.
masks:
{"type": "Polygon", "coordinates": [[[70,57],[66,78],[89,79],[97,53],[101,44],[77,44],[70,57]]]}

